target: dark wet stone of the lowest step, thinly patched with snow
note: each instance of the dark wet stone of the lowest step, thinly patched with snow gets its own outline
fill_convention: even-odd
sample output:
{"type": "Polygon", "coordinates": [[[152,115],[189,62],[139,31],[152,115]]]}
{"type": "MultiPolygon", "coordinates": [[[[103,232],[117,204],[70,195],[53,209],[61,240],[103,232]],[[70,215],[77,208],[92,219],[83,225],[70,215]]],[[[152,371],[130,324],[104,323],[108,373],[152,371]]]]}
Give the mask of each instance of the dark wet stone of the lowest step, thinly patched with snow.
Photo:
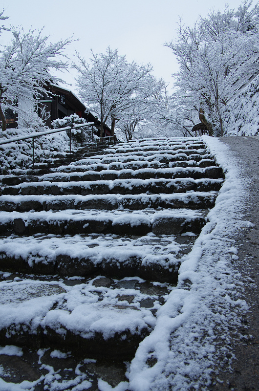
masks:
{"type": "Polygon", "coordinates": [[[20,357],[0,353],[0,376],[6,383],[27,381],[28,386],[34,385],[35,391],[71,390],[77,385],[80,390],[98,391],[98,379],[112,387],[127,381],[127,362],[75,357],[51,348],[22,348],[21,352],[20,357]]]}

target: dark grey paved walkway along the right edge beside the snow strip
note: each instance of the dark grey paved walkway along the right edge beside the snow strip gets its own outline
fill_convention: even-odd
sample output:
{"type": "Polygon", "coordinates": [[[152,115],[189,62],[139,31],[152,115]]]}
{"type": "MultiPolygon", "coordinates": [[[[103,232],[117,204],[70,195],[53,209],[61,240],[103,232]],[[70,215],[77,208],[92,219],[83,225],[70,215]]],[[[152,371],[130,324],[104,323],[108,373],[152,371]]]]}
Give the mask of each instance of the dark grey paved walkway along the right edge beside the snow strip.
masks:
{"type": "Polygon", "coordinates": [[[217,382],[209,390],[259,391],[259,137],[219,137],[219,140],[237,154],[241,177],[250,182],[244,218],[254,226],[237,238],[237,267],[243,276],[254,282],[245,286],[245,300],[250,312],[243,319],[244,328],[240,331],[247,339],[233,341],[237,358],[232,366],[234,371],[219,373],[218,378],[223,383],[217,382]]]}

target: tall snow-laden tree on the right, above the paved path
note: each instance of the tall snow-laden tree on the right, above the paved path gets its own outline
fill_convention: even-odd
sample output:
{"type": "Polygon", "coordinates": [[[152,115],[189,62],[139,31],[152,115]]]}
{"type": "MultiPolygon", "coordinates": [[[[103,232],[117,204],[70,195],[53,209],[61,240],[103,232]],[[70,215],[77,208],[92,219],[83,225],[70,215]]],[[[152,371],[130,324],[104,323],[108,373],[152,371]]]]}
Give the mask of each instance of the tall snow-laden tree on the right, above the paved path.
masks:
{"type": "Polygon", "coordinates": [[[237,11],[211,12],[193,28],[179,24],[178,38],[166,43],[180,69],[178,96],[208,128],[219,123],[227,102],[259,73],[259,6],[243,1],[237,11]]]}

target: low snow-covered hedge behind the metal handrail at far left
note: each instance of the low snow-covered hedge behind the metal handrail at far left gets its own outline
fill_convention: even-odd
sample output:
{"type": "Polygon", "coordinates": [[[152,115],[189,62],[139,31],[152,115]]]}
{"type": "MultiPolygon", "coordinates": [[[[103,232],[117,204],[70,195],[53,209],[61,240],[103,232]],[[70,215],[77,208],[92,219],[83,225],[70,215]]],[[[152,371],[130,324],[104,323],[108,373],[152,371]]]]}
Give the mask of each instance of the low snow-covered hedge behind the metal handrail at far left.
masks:
{"type": "MultiPolygon", "coordinates": [[[[35,129],[7,129],[0,132],[0,141],[8,138],[29,136],[35,129]]],[[[66,132],[40,136],[34,140],[35,161],[55,156],[58,152],[69,151],[69,137],[66,132]]],[[[25,169],[32,164],[32,139],[0,145],[0,174],[7,174],[12,169],[25,169]]]]}

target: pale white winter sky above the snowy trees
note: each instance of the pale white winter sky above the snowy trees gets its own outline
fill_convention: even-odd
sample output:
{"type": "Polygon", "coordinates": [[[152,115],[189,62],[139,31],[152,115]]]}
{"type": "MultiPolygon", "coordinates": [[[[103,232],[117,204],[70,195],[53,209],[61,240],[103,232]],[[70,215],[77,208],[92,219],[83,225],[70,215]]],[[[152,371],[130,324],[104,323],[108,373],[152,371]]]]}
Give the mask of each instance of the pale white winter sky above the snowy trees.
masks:
{"type": "MultiPolygon", "coordinates": [[[[90,49],[94,53],[118,49],[120,55],[137,63],[151,63],[156,78],[163,78],[172,86],[172,73],[177,71],[173,52],[163,46],[176,37],[179,17],[192,26],[199,16],[209,10],[223,9],[226,4],[237,8],[241,0],[0,0],[0,9],[14,26],[44,26],[44,35],[52,43],[74,35],[79,41],[70,45],[67,54],[73,58],[75,50],[88,61],[90,49]]],[[[255,3],[255,2],[254,2],[255,3]]],[[[0,43],[7,43],[6,35],[0,43]]],[[[74,70],[63,75],[76,92],[74,70]]]]}

